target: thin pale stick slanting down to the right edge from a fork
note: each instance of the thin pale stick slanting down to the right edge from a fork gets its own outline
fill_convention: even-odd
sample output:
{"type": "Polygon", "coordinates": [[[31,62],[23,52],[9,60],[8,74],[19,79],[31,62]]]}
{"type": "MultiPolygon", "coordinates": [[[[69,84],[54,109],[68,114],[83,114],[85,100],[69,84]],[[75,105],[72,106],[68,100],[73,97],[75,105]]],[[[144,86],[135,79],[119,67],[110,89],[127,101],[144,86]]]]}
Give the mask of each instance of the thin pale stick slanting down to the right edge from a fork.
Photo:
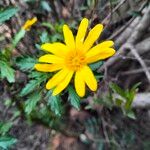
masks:
{"type": "Polygon", "coordinates": [[[148,71],[148,68],[147,68],[145,62],[143,61],[141,56],[138,54],[137,50],[131,44],[126,44],[126,48],[127,49],[129,48],[131,50],[132,54],[135,56],[135,58],[139,61],[139,63],[141,64],[141,66],[142,66],[142,68],[143,68],[143,70],[144,70],[144,72],[146,74],[146,77],[147,77],[147,79],[148,79],[148,81],[150,83],[150,72],[148,71]]]}

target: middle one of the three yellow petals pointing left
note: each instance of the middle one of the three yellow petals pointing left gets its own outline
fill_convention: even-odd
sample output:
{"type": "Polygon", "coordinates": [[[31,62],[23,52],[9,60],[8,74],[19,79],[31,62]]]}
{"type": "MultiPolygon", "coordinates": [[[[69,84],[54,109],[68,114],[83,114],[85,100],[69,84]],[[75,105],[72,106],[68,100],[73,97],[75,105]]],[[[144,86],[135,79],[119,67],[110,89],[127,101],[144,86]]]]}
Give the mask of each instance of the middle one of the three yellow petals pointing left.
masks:
{"type": "Polygon", "coordinates": [[[41,56],[39,58],[39,62],[60,64],[60,63],[64,63],[64,59],[60,58],[58,56],[55,56],[55,55],[46,54],[46,55],[41,56]]]}

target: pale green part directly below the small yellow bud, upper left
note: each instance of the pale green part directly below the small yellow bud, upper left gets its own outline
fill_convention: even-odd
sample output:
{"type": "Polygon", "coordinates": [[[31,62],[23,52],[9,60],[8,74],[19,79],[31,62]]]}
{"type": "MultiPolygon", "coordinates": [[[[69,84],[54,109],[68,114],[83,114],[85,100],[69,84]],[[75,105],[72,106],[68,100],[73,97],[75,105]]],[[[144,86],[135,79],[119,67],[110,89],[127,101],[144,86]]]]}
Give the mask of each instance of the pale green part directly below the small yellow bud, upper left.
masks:
{"type": "Polygon", "coordinates": [[[20,40],[25,36],[26,31],[21,29],[18,33],[15,34],[15,37],[12,41],[13,46],[16,47],[20,40]]]}

